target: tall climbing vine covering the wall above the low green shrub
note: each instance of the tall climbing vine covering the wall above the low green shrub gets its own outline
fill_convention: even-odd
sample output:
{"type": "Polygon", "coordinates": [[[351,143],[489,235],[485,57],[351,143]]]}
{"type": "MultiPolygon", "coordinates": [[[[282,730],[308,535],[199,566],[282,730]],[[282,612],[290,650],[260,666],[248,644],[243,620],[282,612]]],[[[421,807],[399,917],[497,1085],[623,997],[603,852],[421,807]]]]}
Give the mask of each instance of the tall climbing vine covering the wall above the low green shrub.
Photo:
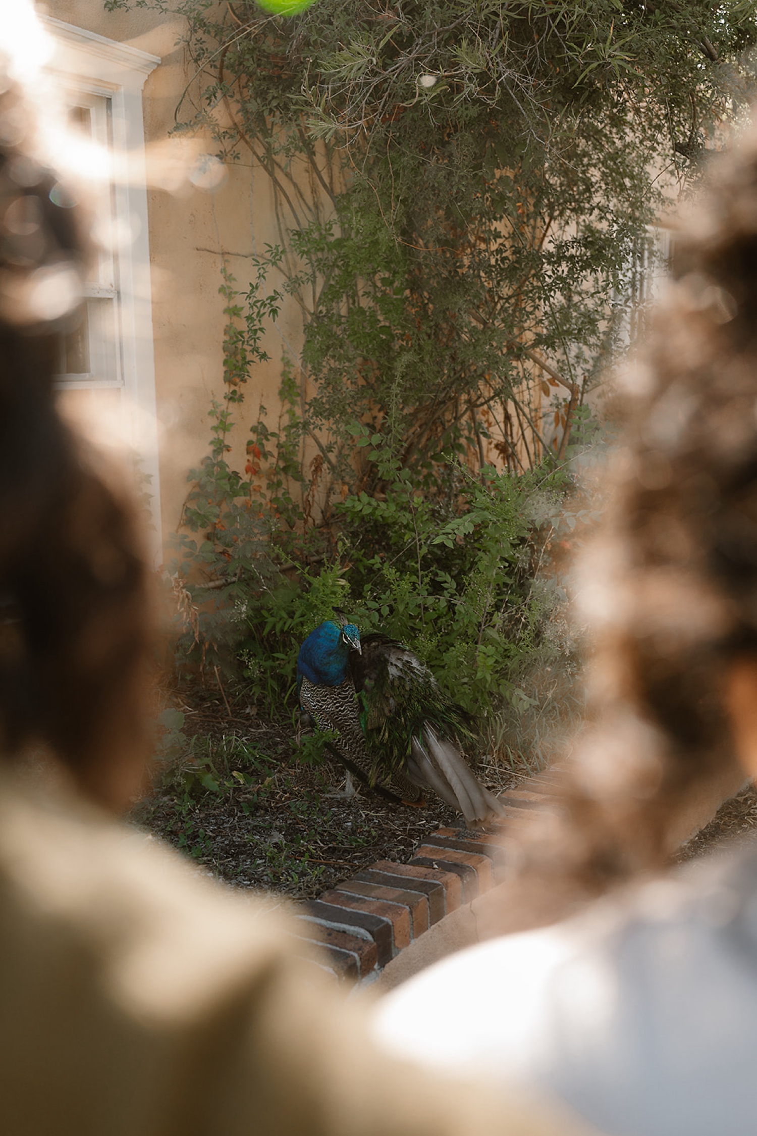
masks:
{"type": "Polygon", "coordinates": [[[380,481],[351,421],[428,486],[454,450],[513,470],[564,456],[634,249],[748,97],[757,5],[153,6],[187,20],[177,127],[210,126],[272,187],[326,508],[380,481]]]}

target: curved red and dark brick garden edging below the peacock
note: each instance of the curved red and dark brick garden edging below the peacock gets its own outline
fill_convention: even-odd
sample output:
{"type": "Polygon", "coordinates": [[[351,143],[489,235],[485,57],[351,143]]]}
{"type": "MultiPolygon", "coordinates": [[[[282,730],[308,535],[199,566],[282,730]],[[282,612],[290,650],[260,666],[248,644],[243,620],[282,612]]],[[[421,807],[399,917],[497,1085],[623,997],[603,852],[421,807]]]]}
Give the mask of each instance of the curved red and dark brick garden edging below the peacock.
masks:
{"type": "Polygon", "coordinates": [[[372,982],[411,942],[504,878],[502,837],[549,796],[548,777],[499,796],[504,817],[482,833],[438,828],[409,863],[379,860],[297,905],[297,938],[317,943],[337,978],[372,982]]]}

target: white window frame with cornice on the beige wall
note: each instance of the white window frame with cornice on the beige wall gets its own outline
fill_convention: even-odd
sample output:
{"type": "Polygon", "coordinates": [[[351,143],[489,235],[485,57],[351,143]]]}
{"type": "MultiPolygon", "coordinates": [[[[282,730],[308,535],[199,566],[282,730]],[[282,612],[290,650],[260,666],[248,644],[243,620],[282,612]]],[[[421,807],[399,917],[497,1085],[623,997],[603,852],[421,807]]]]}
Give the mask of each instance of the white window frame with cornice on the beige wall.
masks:
{"type": "Polygon", "coordinates": [[[153,551],[159,563],[160,469],[142,89],[160,58],[52,16],[43,17],[43,22],[54,41],[50,69],[69,90],[101,95],[110,102],[111,144],[125,167],[125,176],[112,191],[113,220],[121,231],[135,231],[131,247],[119,251],[113,281],[119,328],[117,377],[64,379],[59,386],[124,391],[128,442],[141,459],[142,470],[150,476],[153,551]]]}

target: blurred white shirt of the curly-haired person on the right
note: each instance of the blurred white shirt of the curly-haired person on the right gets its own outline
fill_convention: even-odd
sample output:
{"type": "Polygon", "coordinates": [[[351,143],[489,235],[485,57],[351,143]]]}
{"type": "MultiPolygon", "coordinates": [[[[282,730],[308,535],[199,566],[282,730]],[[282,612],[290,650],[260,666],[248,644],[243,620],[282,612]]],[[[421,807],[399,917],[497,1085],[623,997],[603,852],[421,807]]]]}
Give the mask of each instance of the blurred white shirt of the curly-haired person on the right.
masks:
{"type": "Polygon", "coordinates": [[[757,1134],[757,845],[454,954],[384,999],[375,1030],[607,1136],[757,1134]]]}

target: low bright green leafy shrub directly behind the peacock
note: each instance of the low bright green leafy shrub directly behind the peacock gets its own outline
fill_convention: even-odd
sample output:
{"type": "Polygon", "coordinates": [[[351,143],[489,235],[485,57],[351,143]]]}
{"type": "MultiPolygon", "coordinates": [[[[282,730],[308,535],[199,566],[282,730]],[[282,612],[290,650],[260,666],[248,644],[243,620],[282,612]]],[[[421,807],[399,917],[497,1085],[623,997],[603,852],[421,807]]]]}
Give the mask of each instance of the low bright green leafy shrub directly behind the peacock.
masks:
{"type": "Polygon", "coordinates": [[[586,520],[572,511],[571,478],[558,467],[524,475],[485,467],[477,478],[451,461],[455,493],[434,500],[406,470],[393,473],[382,440],[370,444],[387,490],[351,494],[336,508],[334,560],[247,599],[241,658],[251,693],[289,717],[300,643],[343,611],[363,633],[384,632],[415,651],[476,716],[480,747],[540,763],[555,717],[580,709],[565,592],[545,569],[550,546],[586,520]],[[560,688],[557,716],[550,688],[553,701],[560,688]]]}

